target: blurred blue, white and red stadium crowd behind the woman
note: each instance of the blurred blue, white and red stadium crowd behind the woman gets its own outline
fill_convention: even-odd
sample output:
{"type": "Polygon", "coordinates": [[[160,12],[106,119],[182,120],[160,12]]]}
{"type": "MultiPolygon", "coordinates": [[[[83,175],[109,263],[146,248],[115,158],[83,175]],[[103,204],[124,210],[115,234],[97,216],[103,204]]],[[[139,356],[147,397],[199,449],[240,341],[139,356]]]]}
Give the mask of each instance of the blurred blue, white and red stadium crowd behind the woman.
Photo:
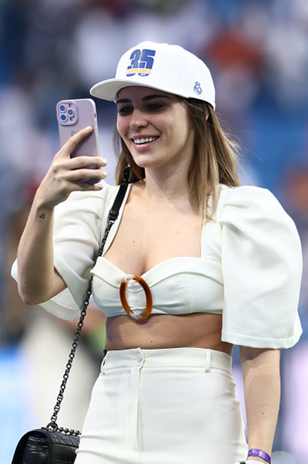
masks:
{"type": "MultiPolygon", "coordinates": [[[[56,102],[89,98],[89,88],[112,77],[122,53],[143,40],[175,43],[205,60],[217,89],[217,113],[243,148],[242,183],[272,190],[296,221],[305,263],[300,296],[304,334],[296,348],[283,353],[285,396],[275,446],[277,453],[283,452],[281,464],[306,464],[307,0],[0,0],[0,375],[7,379],[1,393],[13,385],[7,375],[9,365],[16,368],[12,368],[14,379],[20,379],[21,372],[23,378],[31,377],[30,362],[13,357],[15,364],[6,364],[10,353],[19,350],[35,364],[33,353],[41,349],[39,340],[33,342],[38,333],[45,333],[47,327],[49,335],[57,333],[58,324],[61,333],[68,338],[72,334],[69,324],[24,307],[10,278],[34,192],[59,148],[56,102]]],[[[109,161],[112,184],[115,109],[102,100],[96,104],[100,150],[109,161]]],[[[104,337],[103,321],[98,324],[96,308],[92,311],[82,347],[89,377],[97,370],[104,337]]],[[[47,335],[43,338],[50,345],[45,358],[41,352],[36,360],[38,370],[52,362],[50,352],[59,333],[54,342],[47,335]]],[[[34,383],[23,384],[32,396],[34,383]]],[[[24,414],[35,419],[30,409],[31,414],[24,414]]],[[[25,427],[30,422],[25,421],[25,427]]],[[[2,462],[8,461],[1,461],[0,451],[2,462]]]]}

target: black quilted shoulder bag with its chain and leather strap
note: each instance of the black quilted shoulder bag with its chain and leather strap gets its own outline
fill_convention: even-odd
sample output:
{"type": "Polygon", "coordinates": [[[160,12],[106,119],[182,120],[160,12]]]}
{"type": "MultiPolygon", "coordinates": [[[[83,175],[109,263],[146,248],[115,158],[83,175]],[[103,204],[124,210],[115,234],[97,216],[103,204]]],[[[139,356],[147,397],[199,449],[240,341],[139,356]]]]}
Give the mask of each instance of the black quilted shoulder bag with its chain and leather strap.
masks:
{"type": "MultiPolygon", "coordinates": [[[[102,251],[104,250],[104,245],[107,241],[110,229],[118,218],[128,183],[129,168],[124,168],[124,181],[120,184],[118,195],[115,197],[113,206],[109,211],[107,228],[104,232],[100,249],[98,250],[98,256],[102,256],[102,251]]],[[[89,280],[89,287],[87,289],[85,301],[83,302],[83,309],[80,313],[78,327],[74,335],[74,342],[69,353],[69,359],[65,366],[65,373],[63,375],[60,392],[56,399],[54,413],[51,417],[50,423],[48,423],[46,427],[30,430],[30,432],[27,432],[23,435],[23,437],[21,437],[14,452],[12,464],[73,464],[76,459],[75,452],[79,446],[79,436],[81,432],[79,430],[69,430],[67,428],[58,427],[56,421],[58,418],[58,412],[61,408],[67,379],[69,378],[69,372],[72,368],[72,362],[76,353],[81,329],[83,329],[83,322],[87,313],[91,293],[92,277],[89,280]]]]}

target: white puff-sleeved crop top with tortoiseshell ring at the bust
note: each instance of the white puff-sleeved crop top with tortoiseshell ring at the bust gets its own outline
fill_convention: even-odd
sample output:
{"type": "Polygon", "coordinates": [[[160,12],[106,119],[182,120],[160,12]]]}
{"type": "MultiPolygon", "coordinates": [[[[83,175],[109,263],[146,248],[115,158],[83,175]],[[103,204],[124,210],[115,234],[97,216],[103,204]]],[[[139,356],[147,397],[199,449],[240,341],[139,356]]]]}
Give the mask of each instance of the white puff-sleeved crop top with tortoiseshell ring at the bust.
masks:
{"type": "MultiPolygon", "coordinates": [[[[104,247],[107,252],[119,218],[104,247]]],[[[100,192],[73,192],[56,207],[54,263],[67,289],[41,306],[74,320],[80,314],[89,276],[93,295],[107,317],[126,315],[120,284],[126,276],[104,256],[94,258],[118,187],[104,183],[100,192]]],[[[192,312],[223,316],[222,340],[257,348],[293,346],[302,329],[298,298],[302,269],[298,232],[274,195],[253,186],[220,186],[213,220],[203,225],[201,258],[171,258],[142,278],[151,289],[153,314],[192,312]]],[[[16,278],[16,263],[12,275],[16,278]]],[[[140,284],[129,282],[129,306],[137,314],[146,297],[140,284]]]]}

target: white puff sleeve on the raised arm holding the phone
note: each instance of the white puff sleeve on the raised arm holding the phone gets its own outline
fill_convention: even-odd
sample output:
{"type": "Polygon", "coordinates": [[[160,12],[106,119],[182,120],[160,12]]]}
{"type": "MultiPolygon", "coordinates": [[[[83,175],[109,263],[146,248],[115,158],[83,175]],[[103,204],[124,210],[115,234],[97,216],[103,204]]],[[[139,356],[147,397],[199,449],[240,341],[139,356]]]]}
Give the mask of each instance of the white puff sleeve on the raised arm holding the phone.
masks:
{"type": "MultiPolygon", "coordinates": [[[[40,306],[58,318],[72,321],[80,316],[90,270],[100,247],[109,189],[104,183],[100,192],[72,192],[55,208],[54,267],[67,288],[40,306]]],[[[17,261],[12,276],[17,280],[17,261]]]]}

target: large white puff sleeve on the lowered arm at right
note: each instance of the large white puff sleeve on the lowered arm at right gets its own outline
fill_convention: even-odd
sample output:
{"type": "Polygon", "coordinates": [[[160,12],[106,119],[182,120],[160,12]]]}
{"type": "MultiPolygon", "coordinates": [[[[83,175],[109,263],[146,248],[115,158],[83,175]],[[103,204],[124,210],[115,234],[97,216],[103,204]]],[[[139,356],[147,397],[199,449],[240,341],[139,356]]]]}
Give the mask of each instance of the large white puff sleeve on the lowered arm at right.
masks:
{"type": "Polygon", "coordinates": [[[294,222],[269,190],[253,186],[227,192],[218,221],[222,340],[255,348],[293,346],[302,333],[302,253],[294,222]]]}

